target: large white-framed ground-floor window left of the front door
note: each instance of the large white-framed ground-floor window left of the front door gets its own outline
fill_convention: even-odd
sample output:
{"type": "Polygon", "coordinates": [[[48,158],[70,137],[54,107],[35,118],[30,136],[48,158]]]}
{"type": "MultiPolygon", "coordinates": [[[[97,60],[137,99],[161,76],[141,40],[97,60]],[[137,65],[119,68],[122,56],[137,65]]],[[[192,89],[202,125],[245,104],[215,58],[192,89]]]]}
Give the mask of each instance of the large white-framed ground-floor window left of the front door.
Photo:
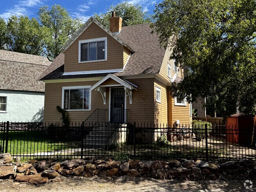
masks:
{"type": "Polygon", "coordinates": [[[88,86],[63,87],[62,108],[67,110],[90,110],[91,92],[88,86]]]}

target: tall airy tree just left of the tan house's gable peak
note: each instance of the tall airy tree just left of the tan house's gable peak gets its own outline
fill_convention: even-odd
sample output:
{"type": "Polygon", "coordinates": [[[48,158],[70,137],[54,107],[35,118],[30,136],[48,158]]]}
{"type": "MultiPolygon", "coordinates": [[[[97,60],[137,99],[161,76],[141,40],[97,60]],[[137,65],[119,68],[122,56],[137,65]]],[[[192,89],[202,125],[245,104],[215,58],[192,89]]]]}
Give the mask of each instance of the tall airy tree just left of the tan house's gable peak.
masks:
{"type": "Polygon", "coordinates": [[[37,15],[47,34],[44,39],[44,52],[56,57],[61,47],[81,27],[82,22],[77,18],[73,19],[64,7],[56,4],[51,8],[40,7],[37,15]]]}

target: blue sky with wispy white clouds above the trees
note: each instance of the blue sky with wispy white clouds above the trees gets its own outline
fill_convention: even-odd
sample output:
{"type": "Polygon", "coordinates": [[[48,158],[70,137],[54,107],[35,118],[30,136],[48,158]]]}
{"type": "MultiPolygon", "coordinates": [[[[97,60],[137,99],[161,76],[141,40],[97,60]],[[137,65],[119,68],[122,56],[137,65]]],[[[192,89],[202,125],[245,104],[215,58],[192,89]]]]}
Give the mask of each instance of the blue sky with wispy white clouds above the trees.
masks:
{"type": "MultiPolygon", "coordinates": [[[[69,11],[73,18],[81,18],[86,21],[94,13],[105,13],[111,4],[116,5],[124,0],[1,0],[0,17],[6,20],[11,15],[28,15],[37,17],[39,7],[59,4],[69,11]]],[[[141,4],[149,14],[153,13],[156,3],[161,0],[127,0],[132,4],[141,4]]]]}

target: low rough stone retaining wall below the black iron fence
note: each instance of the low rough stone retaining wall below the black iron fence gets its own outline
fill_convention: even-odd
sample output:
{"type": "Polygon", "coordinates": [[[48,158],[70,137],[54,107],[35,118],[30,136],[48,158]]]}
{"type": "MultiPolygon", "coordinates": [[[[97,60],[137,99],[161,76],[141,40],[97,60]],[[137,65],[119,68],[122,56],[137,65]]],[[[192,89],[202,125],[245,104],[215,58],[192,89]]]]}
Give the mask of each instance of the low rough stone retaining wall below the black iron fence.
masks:
{"type": "Polygon", "coordinates": [[[128,175],[132,177],[153,177],[176,180],[256,180],[256,163],[251,160],[229,161],[223,164],[180,159],[169,161],[89,161],[75,159],[63,162],[31,160],[19,164],[12,162],[11,155],[0,155],[0,179],[41,184],[48,181],[63,181],[63,176],[111,177],[128,175]]]}

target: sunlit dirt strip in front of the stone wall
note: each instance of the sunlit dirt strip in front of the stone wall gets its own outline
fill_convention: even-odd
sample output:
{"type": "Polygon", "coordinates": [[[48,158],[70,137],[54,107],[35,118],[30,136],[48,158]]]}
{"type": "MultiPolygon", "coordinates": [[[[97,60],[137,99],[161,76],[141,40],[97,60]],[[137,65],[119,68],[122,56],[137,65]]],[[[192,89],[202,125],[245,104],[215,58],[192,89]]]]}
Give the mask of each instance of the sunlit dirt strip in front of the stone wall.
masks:
{"type": "Polygon", "coordinates": [[[146,177],[65,177],[61,183],[46,183],[45,185],[31,185],[0,181],[0,192],[245,192],[244,181],[171,181],[156,180],[146,177]]]}

